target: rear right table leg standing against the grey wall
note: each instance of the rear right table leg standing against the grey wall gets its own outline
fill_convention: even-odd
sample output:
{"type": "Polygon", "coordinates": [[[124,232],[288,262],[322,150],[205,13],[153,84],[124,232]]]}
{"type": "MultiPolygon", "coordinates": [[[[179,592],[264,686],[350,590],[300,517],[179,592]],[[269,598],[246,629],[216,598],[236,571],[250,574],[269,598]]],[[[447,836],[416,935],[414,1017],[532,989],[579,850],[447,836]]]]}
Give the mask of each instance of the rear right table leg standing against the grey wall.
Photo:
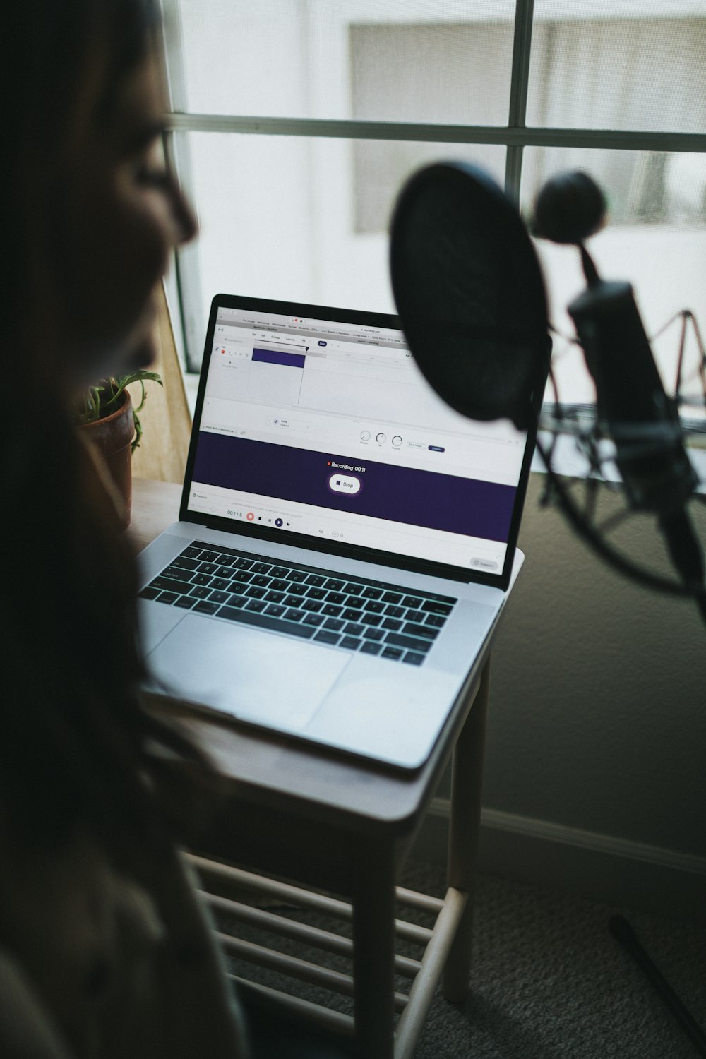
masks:
{"type": "Polygon", "coordinates": [[[468,902],[443,972],[443,995],[455,1004],[460,1004],[468,997],[471,975],[475,864],[481,830],[489,681],[490,659],[484,666],[477,695],[456,741],[451,767],[448,884],[468,894],[468,902]]]}

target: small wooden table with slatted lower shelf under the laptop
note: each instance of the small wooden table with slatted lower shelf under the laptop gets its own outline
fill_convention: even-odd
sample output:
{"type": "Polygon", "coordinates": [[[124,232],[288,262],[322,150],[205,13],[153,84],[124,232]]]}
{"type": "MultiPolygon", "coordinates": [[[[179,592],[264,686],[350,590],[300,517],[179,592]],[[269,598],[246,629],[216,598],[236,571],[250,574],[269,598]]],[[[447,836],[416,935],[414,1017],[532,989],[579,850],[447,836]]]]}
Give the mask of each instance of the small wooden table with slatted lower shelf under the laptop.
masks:
{"type": "MultiPolygon", "coordinates": [[[[179,499],[179,486],[134,481],[129,533],[138,548],[178,519],[179,499]]],[[[349,954],[352,973],[334,973],[237,937],[225,940],[225,949],[351,994],[352,1018],[277,993],[286,1008],[352,1034],[369,1059],[413,1054],[441,977],[449,1001],[461,1002],[468,994],[490,650],[496,629],[472,664],[429,760],[412,775],[255,734],[174,704],[159,705],[179,712],[230,785],[227,804],[194,850],[213,902],[242,921],[276,927],[284,936],[349,954]],[[396,889],[396,880],[450,758],[448,892],[439,900],[396,889]],[[218,897],[223,885],[252,887],[349,919],[352,943],[334,934],[320,936],[301,923],[278,923],[267,909],[218,897]],[[433,931],[396,920],[396,898],[431,912],[436,917],[433,931]],[[396,957],[396,936],[423,945],[420,961],[396,957]],[[398,974],[412,979],[409,997],[395,992],[396,967],[398,974]]]]}

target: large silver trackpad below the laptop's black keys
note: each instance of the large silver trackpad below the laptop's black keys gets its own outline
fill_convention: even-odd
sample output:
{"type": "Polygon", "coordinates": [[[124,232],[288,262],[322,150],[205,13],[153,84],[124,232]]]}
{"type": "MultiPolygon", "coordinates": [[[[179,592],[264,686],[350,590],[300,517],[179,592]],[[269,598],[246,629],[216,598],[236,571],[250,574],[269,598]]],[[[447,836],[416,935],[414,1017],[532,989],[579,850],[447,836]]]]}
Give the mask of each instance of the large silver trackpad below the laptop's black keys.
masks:
{"type": "Polygon", "coordinates": [[[348,661],[343,651],[195,614],[147,657],[169,694],[285,731],[313,717],[348,661]]]}

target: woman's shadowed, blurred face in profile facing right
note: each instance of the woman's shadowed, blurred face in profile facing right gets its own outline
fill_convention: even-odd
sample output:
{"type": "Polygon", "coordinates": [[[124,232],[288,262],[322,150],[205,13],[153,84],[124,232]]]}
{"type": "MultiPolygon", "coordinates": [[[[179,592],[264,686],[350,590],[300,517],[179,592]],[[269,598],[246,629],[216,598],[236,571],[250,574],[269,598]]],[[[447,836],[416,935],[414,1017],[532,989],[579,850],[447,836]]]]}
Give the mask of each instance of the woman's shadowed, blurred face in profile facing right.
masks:
{"type": "Polygon", "coordinates": [[[56,184],[53,246],[59,345],[83,387],[152,360],[155,290],[196,223],[162,156],[164,94],[149,57],[111,106],[76,127],[56,184]]]}

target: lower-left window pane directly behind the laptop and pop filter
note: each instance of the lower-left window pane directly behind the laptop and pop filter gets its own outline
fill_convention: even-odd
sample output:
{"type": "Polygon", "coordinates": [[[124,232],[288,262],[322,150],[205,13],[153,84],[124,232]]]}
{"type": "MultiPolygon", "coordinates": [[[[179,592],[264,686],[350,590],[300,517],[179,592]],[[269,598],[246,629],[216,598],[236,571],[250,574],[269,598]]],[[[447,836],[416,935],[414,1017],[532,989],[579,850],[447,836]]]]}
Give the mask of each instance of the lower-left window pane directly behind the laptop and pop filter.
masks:
{"type": "MultiPolygon", "coordinates": [[[[191,156],[200,222],[194,247],[182,252],[191,255],[184,297],[199,361],[211,299],[221,291],[394,312],[387,226],[400,184],[422,155],[478,161],[477,148],[452,144],[381,141],[374,156],[356,161],[349,140],[209,132],[177,139],[191,156]],[[368,197],[380,227],[363,232],[356,202],[368,197]]],[[[505,148],[484,150],[486,167],[502,180],[505,148]]]]}

